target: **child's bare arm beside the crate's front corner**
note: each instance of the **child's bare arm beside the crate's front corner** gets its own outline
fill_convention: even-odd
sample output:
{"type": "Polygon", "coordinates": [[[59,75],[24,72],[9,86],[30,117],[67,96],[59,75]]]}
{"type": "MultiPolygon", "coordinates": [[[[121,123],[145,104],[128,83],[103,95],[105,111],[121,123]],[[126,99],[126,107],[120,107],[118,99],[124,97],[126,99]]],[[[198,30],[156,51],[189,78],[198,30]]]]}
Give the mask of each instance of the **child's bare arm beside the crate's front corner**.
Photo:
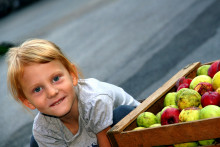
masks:
{"type": "Polygon", "coordinates": [[[99,147],[111,147],[111,144],[108,140],[107,137],[107,131],[110,129],[110,127],[102,130],[101,132],[99,132],[96,136],[97,136],[97,140],[98,140],[98,144],[99,147]]]}

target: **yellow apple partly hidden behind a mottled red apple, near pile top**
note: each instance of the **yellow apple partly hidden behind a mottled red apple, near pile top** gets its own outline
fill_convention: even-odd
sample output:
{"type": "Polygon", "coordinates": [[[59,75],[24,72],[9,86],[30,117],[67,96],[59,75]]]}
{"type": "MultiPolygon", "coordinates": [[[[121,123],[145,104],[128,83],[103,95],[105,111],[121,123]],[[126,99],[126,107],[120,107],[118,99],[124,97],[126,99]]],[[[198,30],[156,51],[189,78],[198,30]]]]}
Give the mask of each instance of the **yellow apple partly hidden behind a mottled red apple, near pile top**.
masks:
{"type": "Polygon", "coordinates": [[[189,85],[190,89],[194,89],[196,85],[198,85],[201,82],[207,82],[207,83],[212,83],[212,78],[207,76],[207,75],[199,75],[196,76],[194,79],[192,79],[192,82],[189,85]]]}

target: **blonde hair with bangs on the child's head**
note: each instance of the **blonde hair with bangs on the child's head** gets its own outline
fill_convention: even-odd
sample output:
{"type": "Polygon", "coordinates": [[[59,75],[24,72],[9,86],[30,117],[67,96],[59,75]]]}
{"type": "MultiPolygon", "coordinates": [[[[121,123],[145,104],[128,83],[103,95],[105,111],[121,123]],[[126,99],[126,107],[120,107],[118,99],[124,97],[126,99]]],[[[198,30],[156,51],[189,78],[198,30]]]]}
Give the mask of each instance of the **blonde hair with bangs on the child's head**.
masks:
{"type": "Polygon", "coordinates": [[[31,63],[48,63],[52,60],[59,60],[69,73],[74,74],[78,80],[81,73],[76,65],[73,65],[64,56],[60,48],[50,41],[43,39],[27,40],[18,47],[10,48],[7,53],[7,80],[9,90],[16,101],[21,102],[21,98],[26,98],[19,82],[24,66],[31,63]]]}

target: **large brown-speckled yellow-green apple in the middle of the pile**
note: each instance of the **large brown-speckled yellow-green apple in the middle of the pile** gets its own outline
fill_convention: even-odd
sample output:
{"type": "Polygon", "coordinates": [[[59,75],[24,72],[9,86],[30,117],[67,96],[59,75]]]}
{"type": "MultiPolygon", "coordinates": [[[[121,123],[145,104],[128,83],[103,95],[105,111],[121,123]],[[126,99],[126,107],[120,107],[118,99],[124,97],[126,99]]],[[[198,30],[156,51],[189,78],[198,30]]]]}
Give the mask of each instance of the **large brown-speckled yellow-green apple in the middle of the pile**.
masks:
{"type": "Polygon", "coordinates": [[[197,91],[192,89],[185,89],[181,93],[178,92],[176,96],[176,104],[180,110],[193,106],[199,107],[201,104],[201,95],[197,91]]]}

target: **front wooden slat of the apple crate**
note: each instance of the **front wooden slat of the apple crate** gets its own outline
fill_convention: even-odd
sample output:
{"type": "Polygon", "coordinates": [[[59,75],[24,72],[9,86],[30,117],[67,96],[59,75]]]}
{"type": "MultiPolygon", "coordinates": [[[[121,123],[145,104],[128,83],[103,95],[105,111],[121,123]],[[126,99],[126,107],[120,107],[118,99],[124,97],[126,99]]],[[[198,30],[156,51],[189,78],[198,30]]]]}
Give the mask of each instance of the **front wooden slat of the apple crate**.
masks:
{"type": "Polygon", "coordinates": [[[220,137],[220,118],[126,131],[116,135],[119,147],[172,145],[220,137]]]}

